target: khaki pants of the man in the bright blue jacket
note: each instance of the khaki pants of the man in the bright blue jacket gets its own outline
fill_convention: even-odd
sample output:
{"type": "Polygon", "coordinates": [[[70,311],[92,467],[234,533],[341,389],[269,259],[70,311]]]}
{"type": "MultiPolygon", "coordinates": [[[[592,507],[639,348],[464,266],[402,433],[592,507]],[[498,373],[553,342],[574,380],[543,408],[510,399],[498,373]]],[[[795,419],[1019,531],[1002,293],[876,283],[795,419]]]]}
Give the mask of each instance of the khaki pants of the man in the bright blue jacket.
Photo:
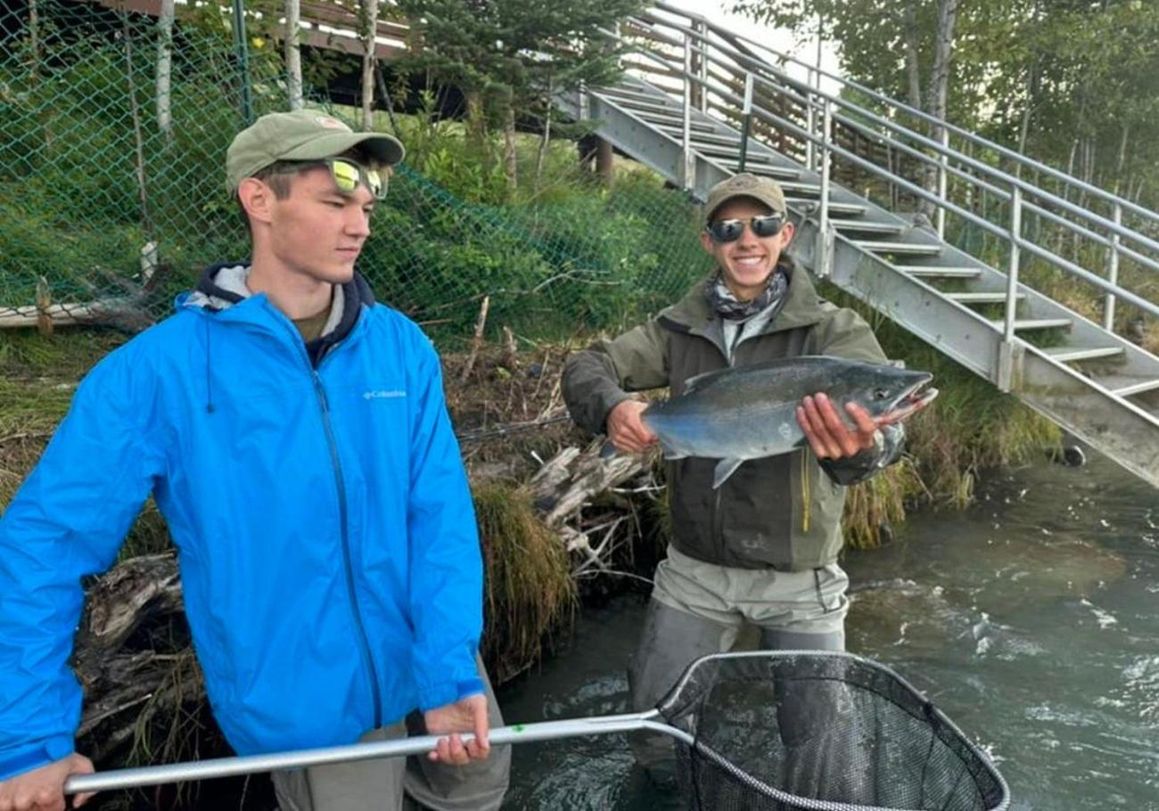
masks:
{"type": "MultiPolygon", "coordinates": [[[[503,725],[490,680],[479,663],[491,729],[503,725]]],[[[422,715],[367,732],[362,740],[425,735],[422,715]]],[[[506,794],[511,747],[493,746],[487,760],[453,766],[427,755],[333,763],[275,772],[282,811],[496,811],[506,794]]]]}

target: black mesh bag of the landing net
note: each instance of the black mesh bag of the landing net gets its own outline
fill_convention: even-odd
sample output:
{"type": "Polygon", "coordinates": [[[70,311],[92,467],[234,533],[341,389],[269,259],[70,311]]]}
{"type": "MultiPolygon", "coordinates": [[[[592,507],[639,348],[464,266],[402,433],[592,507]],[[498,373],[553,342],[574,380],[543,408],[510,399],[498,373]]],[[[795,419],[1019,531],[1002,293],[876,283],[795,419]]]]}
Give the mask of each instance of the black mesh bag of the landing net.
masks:
{"type": "Polygon", "coordinates": [[[999,811],[985,755],[888,667],[847,653],[760,651],[694,663],[657,708],[688,808],[999,811]]]}

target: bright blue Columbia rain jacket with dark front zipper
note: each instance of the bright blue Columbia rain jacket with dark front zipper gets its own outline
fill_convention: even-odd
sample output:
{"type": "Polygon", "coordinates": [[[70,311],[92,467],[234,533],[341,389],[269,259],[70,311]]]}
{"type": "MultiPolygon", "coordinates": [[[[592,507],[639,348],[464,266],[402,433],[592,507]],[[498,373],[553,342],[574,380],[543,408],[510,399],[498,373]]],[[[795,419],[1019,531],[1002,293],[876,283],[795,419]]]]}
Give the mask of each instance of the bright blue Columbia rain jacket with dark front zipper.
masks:
{"type": "Polygon", "coordinates": [[[482,692],[479,540],[430,342],[355,277],[307,349],[231,273],[93,368],[0,517],[0,779],[73,751],[81,578],[151,492],[240,754],[482,692]]]}

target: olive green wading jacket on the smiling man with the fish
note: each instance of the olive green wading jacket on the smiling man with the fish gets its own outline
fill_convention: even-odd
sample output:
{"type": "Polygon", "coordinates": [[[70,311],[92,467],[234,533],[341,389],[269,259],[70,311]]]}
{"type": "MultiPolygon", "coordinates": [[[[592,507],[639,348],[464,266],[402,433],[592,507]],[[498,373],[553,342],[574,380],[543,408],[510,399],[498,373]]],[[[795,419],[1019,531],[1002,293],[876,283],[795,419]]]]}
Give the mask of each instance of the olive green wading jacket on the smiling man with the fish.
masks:
{"type": "MultiPolygon", "coordinates": [[[[734,348],[734,366],[801,355],[885,363],[869,326],[853,310],[817,297],[804,271],[782,257],[789,273],[780,313],[734,348]]],[[[608,411],[629,392],[669,387],[729,366],[721,319],[698,284],[678,304],[613,341],[599,341],[568,359],[563,396],[578,425],[600,433],[608,411]]],[[[899,438],[898,438],[899,439],[899,438]]],[[[804,570],[837,560],[841,549],[845,484],[896,459],[901,443],[840,462],[818,462],[806,447],[744,462],[713,489],[716,460],[668,462],[672,545],[701,561],[746,569],[804,570]]]]}

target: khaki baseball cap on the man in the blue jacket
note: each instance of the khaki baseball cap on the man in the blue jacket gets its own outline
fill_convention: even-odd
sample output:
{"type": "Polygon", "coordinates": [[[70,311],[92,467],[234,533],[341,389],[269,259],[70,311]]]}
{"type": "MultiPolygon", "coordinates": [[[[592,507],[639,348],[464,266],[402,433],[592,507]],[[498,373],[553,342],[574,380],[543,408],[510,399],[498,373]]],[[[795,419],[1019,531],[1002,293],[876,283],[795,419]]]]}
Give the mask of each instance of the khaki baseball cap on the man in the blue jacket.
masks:
{"type": "Polygon", "coordinates": [[[277,161],[312,161],[357,147],[369,160],[393,166],[406,151],[384,132],[355,132],[321,110],[294,110],[262,116],[238,133],[225,154],[229,191],[277,161]]]}

